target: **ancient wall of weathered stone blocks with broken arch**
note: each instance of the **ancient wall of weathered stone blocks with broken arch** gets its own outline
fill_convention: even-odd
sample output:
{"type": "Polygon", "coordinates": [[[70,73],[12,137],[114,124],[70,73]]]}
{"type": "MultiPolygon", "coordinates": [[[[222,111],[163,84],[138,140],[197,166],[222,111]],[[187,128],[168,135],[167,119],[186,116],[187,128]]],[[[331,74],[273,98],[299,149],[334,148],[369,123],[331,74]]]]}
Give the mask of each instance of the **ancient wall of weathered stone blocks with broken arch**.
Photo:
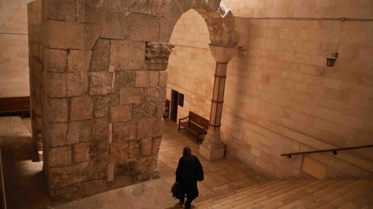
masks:
{"type": "Polygon", "coordinates": [[[42,71],[33,67],[33,76],[41,77],[52,198],[159,177],[165,70],[173,47],[165,43],[179,17],[194,8],[213,44],[237,45],[233,14],[220,0],[43,0],[30,7],[39,3],[42,71]]]}

